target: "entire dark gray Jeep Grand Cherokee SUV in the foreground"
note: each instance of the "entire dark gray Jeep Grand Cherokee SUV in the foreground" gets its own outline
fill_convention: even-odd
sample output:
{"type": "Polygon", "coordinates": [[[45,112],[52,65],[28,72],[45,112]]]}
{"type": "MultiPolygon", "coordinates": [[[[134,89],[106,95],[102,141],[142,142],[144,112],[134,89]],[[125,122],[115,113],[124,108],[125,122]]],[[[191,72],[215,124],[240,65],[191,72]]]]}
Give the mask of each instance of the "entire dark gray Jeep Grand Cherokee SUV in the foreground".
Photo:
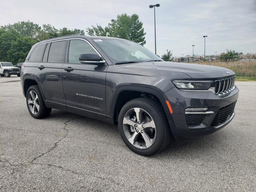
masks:
{"type": "Polygon", "coordinates": [[[166,148],[171,134],[182,140],[220,130],[234,117],[239,92],[229,69],[164,62],[139,44],[99,36],[35,44],[21,83],[34,118],[56,108],[118,124],[125,144],[142,155],[166,148]]]}

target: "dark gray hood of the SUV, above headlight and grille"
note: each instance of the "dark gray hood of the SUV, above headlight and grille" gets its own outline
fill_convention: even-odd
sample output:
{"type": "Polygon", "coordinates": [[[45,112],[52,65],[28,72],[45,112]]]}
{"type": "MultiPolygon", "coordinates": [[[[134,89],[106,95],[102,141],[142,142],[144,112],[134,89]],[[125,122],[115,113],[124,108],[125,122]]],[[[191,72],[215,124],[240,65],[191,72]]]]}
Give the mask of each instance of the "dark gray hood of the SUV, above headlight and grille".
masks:
{"type": "Polygon", "coordinates": [[[190,76],[193,80],[200,79],[217,79],[226,76],[232,76],[235,73],[227,68],[192,64],[192,63],[177,63],[177,62],[141,62],[132,64],[122,64],[124,67],[164,70],[166,72],[182,72],[190,76]]]}

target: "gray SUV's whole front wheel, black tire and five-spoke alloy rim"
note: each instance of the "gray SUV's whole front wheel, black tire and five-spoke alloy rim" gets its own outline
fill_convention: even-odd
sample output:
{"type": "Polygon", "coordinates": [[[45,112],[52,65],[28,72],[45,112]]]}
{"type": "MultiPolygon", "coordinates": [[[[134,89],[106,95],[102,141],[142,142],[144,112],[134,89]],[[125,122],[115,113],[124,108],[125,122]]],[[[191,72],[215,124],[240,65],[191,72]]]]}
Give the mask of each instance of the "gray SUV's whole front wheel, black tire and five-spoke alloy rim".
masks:
{"type": "Polygon", "coordinates": [[[170,142],[171,132],[164,110],[151,98],[136,98],[127,102],[120,110],[118,128],[126,146],[140,155],[150,156],[160,152],[170,142]],[[141,122],[138,122],[137,116],[141,122]],[[130,125],[132,123],[134,126],[130,125]]]}

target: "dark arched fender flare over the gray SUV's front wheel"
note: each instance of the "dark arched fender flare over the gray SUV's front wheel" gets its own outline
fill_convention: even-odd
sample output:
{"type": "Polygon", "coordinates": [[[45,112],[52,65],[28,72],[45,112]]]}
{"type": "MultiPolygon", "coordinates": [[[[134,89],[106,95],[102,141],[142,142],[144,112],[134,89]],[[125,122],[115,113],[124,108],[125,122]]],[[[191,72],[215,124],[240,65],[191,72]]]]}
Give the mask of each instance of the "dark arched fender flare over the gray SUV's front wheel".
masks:
{"type": "Polygon", "coordinates": [[[114,96],[112,97],[112,104],[111,104],[111,110],[110,110],[110,116],[111,116],[111,119],[113,120],[113,122],[115,121],[114,120],[114,113],[115,113],[115,108],[116,108],[116,103],[117,103],[117,99],[118,99],[118,96],[120,95],[120,93],[122,91],[139,91],[139,92],[145,92],[145,93],[149,93],[149,94],[153,94],[154,96],[156,96],[158,98],[158,100],[160,101],[163,109],[164,109],[164,112],[166,114],[166,118],[169,122],[173,122],[172,120],[172,115],[170,114],[170,111],[168,109],[168,106],[166,104],[166,100],[167,97],[163,94],[161,94],[158,90],[155,90],[153,88],[145,88],[145,87],[142,87],[142,86],[120,86],[114,96]]]}

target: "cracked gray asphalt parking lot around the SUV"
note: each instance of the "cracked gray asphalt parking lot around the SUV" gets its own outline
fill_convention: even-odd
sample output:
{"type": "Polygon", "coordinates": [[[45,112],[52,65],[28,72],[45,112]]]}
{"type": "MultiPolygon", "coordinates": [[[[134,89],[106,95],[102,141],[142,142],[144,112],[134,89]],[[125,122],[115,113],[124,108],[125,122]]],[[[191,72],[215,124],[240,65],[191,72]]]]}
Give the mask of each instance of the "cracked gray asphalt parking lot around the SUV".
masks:
{"type": "Polygon", "coordinates": [[[140,156],[118,127],[60,110],[30,116],[20,78],[0,78],[0,191],[256,191],[256,82],[209,136],[140,156]]]}

